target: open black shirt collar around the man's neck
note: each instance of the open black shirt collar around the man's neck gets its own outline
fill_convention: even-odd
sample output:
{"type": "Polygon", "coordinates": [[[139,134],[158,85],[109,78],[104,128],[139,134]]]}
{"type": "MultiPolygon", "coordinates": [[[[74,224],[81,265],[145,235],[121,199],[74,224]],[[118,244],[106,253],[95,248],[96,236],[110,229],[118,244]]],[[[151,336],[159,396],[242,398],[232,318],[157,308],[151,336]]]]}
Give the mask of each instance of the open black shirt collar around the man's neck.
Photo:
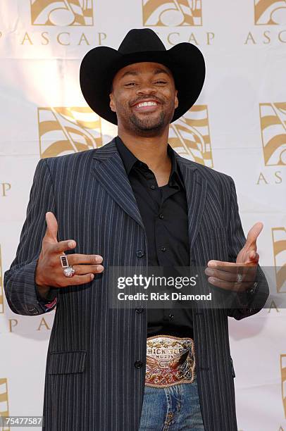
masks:
{"type": "MultiPolygon", "coordinates": [[[[117,147],[118,152],[120,154],[121,160],[123,161],[123,165],[125,167],[125,171],[126,171],[127,175],[130,175],[130,172],[131,172],[132,168],[134,167],[135,163],[137,163],[137,164],[143,163],[143,165],[148,168],[146,163],[139,161],[139,159],[130,151],[130,149],[128,149],[128,147],[123,143],[122,139],[120,139],[119,136],[116,137],[116,147],[117,147]]],[[[168,152],[168,155],[170,156],[170,161],[171,161],[171,171],[170,171],[169,184],[174,185],[174,183],[178,177],[178,180],[181,182],[181,184],[183,186],[184,184],[183,184],[182,179],[180,177],[179,166],[178,166],[177,160],[175,158],[175,151],[170,146],[170,144],[168,144],[167,152],[168,152]]]]}

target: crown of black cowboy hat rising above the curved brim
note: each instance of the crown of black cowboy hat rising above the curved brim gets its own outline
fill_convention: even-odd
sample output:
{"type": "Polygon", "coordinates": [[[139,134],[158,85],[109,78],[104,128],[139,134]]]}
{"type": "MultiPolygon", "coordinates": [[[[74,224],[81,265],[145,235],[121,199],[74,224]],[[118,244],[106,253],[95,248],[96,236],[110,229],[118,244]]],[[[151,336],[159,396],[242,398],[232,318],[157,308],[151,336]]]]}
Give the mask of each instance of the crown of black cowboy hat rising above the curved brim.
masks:
{"type": "Polygon", "coordinates": [[[134,28],[130,30],[118,48],[120,54],[144,51],[166,51],[161,39],[150,28],[134,28]]]}

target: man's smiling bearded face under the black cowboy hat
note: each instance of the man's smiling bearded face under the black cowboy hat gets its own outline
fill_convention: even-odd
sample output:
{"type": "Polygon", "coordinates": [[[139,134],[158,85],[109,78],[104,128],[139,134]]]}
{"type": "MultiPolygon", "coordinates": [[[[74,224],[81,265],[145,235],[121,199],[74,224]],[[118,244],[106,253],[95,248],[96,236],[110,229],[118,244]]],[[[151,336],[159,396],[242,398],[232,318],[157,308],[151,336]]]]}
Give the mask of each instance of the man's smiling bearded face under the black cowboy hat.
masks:
{"type": "Polygon", "coordinates": [[[113,78],[110,107],[118,127],[156,135],[170,124],[178,106],[173,75],[160,63],[133,63],[113,78]]]}

